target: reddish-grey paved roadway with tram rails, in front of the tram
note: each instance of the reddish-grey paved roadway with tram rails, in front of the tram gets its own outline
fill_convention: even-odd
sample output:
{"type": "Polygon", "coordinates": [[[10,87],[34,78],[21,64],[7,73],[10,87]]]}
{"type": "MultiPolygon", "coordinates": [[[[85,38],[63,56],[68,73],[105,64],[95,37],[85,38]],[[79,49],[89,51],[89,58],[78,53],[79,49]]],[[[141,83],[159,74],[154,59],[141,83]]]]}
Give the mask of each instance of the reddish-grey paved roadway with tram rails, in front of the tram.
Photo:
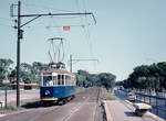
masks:
{"type": "Polygon", "coordinates": [[[102,121],[98,88],[87,88],[63,106],[32,107],[0,118],[0,121],[102,121]]]}

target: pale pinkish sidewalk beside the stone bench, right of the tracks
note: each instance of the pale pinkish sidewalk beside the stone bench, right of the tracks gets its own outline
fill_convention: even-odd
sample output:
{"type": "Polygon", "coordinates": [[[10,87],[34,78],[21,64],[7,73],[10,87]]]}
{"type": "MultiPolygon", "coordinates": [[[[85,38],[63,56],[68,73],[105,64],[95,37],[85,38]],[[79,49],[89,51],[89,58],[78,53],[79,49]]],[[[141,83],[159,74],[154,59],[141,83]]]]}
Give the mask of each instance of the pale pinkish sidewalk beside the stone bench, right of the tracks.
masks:
{"type": "Polygon", "coordinates": [[[164,121],[156,117],[137,117],[134,107],[123,100],[104,101],[104,106],[107,121],[164,121]]]}

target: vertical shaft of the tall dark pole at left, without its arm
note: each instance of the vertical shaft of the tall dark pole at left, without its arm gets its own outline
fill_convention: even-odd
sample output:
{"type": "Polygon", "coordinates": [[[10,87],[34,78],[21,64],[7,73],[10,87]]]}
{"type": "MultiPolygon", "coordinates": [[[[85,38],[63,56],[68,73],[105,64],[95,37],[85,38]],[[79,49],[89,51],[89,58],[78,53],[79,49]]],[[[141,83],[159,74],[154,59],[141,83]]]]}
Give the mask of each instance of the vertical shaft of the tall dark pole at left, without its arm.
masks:
{"type": "Polygon", "coordinates": [[[18,44],[17,44],[17,107],[20,107],[20,11],[21,2],[18,1],[18,44]]]}

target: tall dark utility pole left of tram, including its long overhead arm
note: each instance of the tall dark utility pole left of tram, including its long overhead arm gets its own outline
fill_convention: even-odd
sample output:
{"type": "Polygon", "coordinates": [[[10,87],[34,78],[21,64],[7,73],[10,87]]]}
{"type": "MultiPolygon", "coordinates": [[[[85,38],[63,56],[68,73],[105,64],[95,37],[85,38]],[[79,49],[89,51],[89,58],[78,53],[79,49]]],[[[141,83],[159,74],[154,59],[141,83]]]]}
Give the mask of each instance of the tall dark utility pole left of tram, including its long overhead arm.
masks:
{"type": "Polygon", "coordinates": [[[27,25],[28,23],[37,20],[40,16],[61,16],[61,15],[91,15],[94,24],[96,24],[96,20],[94,18],[94,14],[92,12],[84,12],[84,13],[48,13],[48,14],[21,14],[21,1],[18,1],[18,4],[12,4],[11,6],[11,12],[13,9],[13,6],[18,6],[18,14],[14,15],[13,13],[11,13],[11,16],[17,16],[17,30],[18,30],[18,42],[17,42],[17,107],[20,107],[20,40],[22,38],[22,34],[23,31],[21,30],[21,28],[23,28],[24,25],[27,25]],[[28,22],[21,24],[21,18],[32,18],[31,20],[29,20],[28,22]]]}

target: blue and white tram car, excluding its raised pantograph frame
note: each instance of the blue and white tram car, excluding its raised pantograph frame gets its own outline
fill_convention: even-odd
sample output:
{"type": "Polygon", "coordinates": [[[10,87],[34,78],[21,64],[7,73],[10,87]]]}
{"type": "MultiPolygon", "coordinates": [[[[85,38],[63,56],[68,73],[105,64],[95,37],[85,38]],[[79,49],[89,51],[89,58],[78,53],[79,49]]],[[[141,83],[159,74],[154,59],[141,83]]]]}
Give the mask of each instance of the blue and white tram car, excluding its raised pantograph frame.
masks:
{"type": "Polygon", "coordinates": [[[75,97],[75,76],[64,69],[63,63],[51,64],[41,72],[40,99],[49,103],[75,97]]]}

